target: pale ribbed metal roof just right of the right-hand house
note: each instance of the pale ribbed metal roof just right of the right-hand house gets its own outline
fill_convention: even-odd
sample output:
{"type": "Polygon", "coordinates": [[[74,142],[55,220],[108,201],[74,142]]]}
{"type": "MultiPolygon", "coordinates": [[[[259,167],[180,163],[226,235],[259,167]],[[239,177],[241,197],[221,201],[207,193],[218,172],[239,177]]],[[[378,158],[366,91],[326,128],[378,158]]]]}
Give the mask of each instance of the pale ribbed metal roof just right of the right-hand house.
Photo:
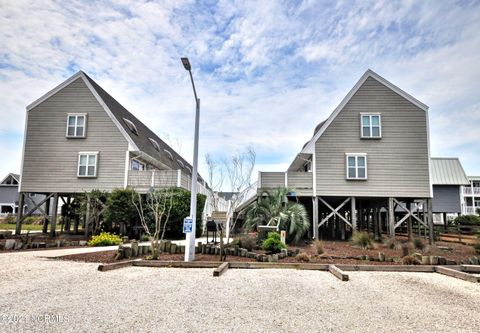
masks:
{"type": "Polygon", "coordinates": [[[432,185],[468,185],[467,175],[457,157],[432,157],[432,185]]]}

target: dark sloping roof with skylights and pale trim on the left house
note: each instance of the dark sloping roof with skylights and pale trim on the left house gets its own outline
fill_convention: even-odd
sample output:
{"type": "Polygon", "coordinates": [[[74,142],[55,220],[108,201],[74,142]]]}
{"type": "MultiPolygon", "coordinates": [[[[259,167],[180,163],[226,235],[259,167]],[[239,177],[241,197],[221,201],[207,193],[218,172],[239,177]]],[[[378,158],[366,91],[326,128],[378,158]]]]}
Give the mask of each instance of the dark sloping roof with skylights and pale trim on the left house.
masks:
{"type": "MultiPolygon", "coordinates": [[[[90,78],[83,71],[77,72],[63,83],[31,103],[27,106],[27,111],[32,110],[34,107],[45,101],[50,96],[54,95],[64,87],[68,86],[78,78],[81,78],[92,94],[95,96],[100,105],[104,108],[105,112],[110,116],[113,123],[117,126],[119,131],[123,134],[125,139],[129,143],[129,150],[138,151],[146,154],[145,157],[153,158],[162,164],[177,170],[190,173],[192,170],[191,165],[180,156],[175,150],[167,145],[162,139],[160,139],[152,130],[150,130],[145,124],[143,124],[137,117],[124,108],[115,98],[107,93],[98,83],[90,78]],[[125,121],[125,119],[127,121],[125,121]],[[128,121],[132,122],[137,129],[137,134],[134,134],[128,127],[128,121]],[[153,139],[158,143],[159,150],[157,150],[152,142],[153,139]],[[183,166],[181,163],[183,163],[183,166]]],[[[199,181],[202,178],[199,175],[199,181]]]]}

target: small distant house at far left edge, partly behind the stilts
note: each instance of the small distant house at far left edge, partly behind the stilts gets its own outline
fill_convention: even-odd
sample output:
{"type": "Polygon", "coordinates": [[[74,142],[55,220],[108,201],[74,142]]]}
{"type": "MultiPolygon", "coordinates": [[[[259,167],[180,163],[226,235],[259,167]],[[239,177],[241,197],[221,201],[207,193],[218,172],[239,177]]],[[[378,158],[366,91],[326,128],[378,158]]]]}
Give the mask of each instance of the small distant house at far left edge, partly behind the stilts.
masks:
{"type": "MultiPolygon", "coordinates": [[[[20,183],[20,175],[9,173],[0,182],[0,216],[18,213],[18,184],[20,183]]],[[[43,200],[45,196],[29,195],[24,203],[23,212],[27,212],[35,206],[37,202],[43,200]]],[[[35,210],[33,214],[39,214],[40,211],[35,210]]]]}

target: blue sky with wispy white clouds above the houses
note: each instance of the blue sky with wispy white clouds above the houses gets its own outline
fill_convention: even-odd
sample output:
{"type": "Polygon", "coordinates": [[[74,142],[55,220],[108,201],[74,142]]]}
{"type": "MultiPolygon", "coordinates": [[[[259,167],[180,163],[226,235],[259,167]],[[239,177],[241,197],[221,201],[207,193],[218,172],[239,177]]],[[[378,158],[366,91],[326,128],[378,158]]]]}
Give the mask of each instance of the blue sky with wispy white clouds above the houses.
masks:
{"type": "Polygon", "coordinates": [[[284,171],[367,69],[427,104],[432,156],[480,175],[480,1],[0,0],[0,178],[25,107],[83,70],[191,162],[284,171]]]}

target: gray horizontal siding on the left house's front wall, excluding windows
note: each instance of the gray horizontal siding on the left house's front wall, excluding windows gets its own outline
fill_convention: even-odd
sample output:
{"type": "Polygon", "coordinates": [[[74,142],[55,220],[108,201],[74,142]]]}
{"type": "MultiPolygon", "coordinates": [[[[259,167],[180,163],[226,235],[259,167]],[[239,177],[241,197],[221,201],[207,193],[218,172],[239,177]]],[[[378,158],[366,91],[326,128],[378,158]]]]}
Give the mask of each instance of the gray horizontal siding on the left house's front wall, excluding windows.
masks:
{"type": "Polygon", "coordinates": [[[128,143],[82,78],[28,111],[22,192],[122,188],[128,143]],[[87,136],[66,138],[68,113],[87,113],[87,136]],[[79,152],[98,151],[97,177],[78,178],[79,152]]]}

